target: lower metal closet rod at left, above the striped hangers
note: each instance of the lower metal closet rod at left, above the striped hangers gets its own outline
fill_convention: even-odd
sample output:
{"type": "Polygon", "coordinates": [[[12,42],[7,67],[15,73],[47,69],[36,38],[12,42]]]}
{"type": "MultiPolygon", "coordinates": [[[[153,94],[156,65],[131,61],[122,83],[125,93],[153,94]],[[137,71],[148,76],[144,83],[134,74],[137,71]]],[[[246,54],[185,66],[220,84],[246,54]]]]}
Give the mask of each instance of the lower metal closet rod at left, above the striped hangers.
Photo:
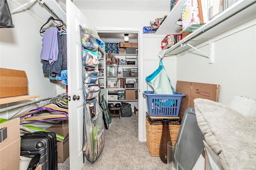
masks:
{"type": "MultiPolygon", "coordinates": [[[[35,103],[40,103],[41,101],[47,101],[47,100],[55,101],[56,99],[60,100],[60,99],[63,99],[64,97],[66,97],[66,96],[68,96],[68,93],[62,93],[62,94],[55,95],[55,96],[52,96],[52,97],[46,97],[46,98],[40,99],[40,100],[31,101],[31,102],[28,102],[28,103],[22,103],[20,105],[6,107],[6,108],[3,108],[3,109],[0,109],[0,113],[1,112],[5,112],[5,111],[10,111],[12,109],[17,109],[19,107],[24,107],[24,106],[32,105],[32,104],[35,104],[35,103]]],[[[52,103],[54,103],[54,102],[52,102],[52,103]]]]}

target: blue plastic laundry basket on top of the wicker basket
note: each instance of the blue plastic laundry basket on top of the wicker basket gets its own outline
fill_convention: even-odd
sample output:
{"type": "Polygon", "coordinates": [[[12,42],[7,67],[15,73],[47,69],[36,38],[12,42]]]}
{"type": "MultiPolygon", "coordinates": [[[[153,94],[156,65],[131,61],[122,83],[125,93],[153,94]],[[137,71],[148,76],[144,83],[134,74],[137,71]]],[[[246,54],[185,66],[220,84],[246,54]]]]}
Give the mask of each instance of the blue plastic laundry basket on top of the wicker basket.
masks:
{"type": "Polygon", "coordinates": [[[178,117],[182,97],[186,95],[174,91],[173,95],[154,94],[154,91],[144,91],[148,113],[150,116],[178,117]]]}

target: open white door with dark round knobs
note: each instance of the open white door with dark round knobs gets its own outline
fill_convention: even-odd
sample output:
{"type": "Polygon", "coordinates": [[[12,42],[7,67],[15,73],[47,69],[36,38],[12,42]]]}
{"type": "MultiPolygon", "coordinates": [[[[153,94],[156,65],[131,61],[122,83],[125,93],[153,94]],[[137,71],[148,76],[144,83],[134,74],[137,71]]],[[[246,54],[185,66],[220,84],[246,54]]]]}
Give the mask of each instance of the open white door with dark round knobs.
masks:
{"type": "Polygon", "coordinates": [[[84,166],[83,146],[83,111],[84,97],[82,90],[82,52],[80,27],[86,21],[85,16],[71,2],[66,1],[67,13],[67,53],[68,53],[68,120],[70,170],[80,170],[84,166]],[[74,96],[75,95],[75,96],[74,96]],[[77,97],[80,97],[78,99],[77,97]],[[74,97],[74,99],[73,99],[74,97]]]}

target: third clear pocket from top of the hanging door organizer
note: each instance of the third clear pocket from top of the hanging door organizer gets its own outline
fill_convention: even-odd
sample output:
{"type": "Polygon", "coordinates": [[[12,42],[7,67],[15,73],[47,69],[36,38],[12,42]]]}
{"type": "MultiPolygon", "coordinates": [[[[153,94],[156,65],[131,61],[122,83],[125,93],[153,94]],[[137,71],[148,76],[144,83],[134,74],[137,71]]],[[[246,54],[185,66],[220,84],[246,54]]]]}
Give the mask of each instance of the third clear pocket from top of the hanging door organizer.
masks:
{"type": "Polygon", "coordinates": [[[95,68],[84,66],[84,76],[83,76],[84,83],[96,83],[99,77],[100,77],[100,71],[96,70],[95,68]]]}

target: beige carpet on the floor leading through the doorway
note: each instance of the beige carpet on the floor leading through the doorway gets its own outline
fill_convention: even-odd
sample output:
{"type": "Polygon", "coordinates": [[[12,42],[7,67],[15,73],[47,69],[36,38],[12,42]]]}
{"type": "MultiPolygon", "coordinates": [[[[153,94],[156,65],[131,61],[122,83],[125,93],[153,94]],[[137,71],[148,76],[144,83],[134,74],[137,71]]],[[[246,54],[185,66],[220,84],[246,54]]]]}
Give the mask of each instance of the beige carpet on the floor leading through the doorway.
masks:
{"type": "MultiPolygon", "coordinates": [[[[105,146],[92,164],[86,162],[82,170],[163,170],[167,168],[160,157],[151,156],[146,142],[138,140],[138,117],[112,117],[105,129],[105,146]]],[[[69,158],[58,163],[58,170],[68,170],[69,158]]]]}

